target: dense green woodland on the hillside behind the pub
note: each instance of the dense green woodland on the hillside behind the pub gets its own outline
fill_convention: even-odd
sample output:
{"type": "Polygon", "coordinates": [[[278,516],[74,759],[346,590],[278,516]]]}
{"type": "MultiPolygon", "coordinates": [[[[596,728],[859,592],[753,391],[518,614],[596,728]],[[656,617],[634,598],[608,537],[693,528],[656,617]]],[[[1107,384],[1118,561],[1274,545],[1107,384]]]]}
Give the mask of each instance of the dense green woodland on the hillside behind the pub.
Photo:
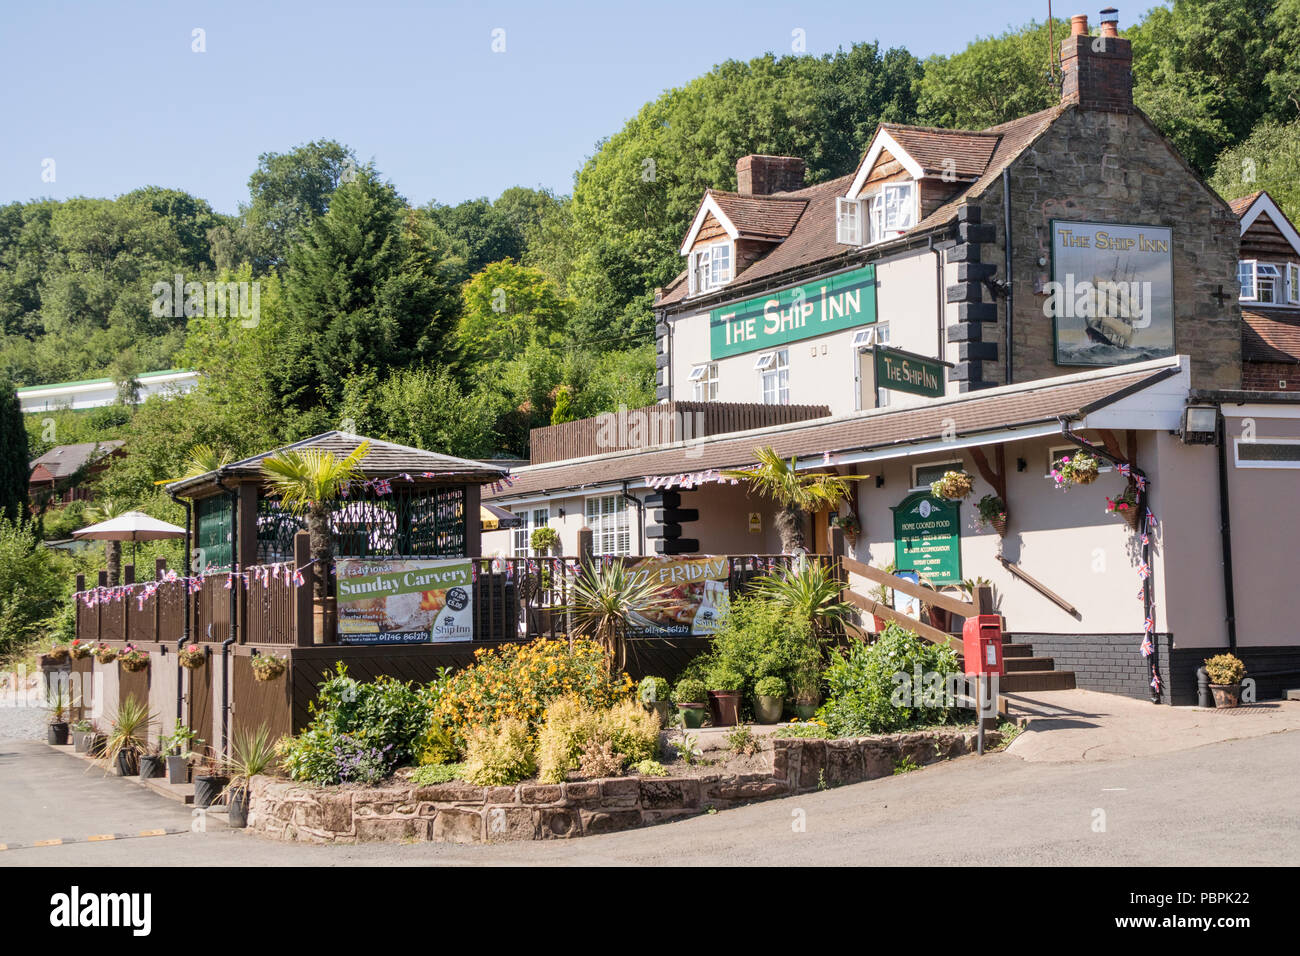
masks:
{"type": "MultiPolygon", "coordinates": [[[[802,156],[818,182],[850,172],[880,121],[979,129],[1045,108],[1048,35],[1030,23],[928,60],[859,43],[723,62],[597,143],[568,195],[412,206],[358,160],[368,144],[322,139],[260,156],[233,216],[153,186],[3,206],[0,378],[110,376],[125,394],[140,372],[203,372],[172,401],[27,421],[32,457],[127,438],[104,493],[172,519],[155,483],[199,444],[239,455],[347,421],[526,455],[529,428],[653,401],[654,289],[738,156],[802,156]],[[259,282],[259,321],[156,316],[151,289],[174,274],[259,282]]],[[[1300,0],[1175,0],[1124,35],[1138,104],[1214,187],[1268,189],[1300,215],[1300,0]]]]}

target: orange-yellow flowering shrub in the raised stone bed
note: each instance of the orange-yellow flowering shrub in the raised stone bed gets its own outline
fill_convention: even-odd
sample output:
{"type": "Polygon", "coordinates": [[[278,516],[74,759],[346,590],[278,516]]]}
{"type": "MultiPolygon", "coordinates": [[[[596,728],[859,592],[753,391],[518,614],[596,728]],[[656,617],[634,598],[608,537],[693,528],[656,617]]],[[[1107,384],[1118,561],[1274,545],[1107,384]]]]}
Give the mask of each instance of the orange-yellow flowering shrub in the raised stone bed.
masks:
{"type": "Polygon", "coordinates": [[[632,678],[611,676],[604,653],[588,640],[573,641],[572,650],[568,641],[507,644],[474,657],[447,680],[434,708],[458,750],[464,750],[477,726],[516,718],[538,728],[546,708],[564,695],[604,708],[632,693],[632,678]]]}

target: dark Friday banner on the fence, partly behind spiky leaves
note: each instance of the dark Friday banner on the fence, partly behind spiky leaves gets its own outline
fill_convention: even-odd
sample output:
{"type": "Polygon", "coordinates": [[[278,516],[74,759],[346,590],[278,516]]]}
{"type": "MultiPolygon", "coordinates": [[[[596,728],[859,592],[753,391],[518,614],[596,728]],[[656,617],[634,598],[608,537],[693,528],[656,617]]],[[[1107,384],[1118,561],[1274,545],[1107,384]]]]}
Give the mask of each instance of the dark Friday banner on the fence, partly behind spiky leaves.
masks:
{"type": "Polygon", "coordinates": [[[724,557],[629,558],[627,567],[638,581],[651,580],[660,591],[654,604],[628,615],[629,637],[702,637],[711,635],[729,602],[729,562],[724,557]]]}

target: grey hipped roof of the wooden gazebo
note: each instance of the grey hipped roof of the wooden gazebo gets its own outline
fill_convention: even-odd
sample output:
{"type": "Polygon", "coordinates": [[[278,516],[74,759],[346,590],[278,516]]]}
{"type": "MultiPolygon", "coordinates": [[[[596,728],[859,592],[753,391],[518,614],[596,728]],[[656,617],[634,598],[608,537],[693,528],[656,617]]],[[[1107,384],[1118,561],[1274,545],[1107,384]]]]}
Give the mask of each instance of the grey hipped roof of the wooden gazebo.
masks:
{"type": "Polygon", "coordinates": [[[350,455],[363,442],[370,442],[370,451],[361,459],[361,471],[367,477],[391,479],[399,475],[410,476],[415,483],[460,483],[460,484],[486,484],[498,481],[507,473],[506,468],[498,468],[485,462],[473,462],[468,458],[455,458],[452,455],[439,455],[436,451],[425,451],[408,445],[398,445],[380,438],[367,438],[350,432],[322,432],[311,438],[303,438],[292,445],[285,445],[270,451],[263,451],[252,458],[233,462],[216,471],[209,471],[195,477],[173,481],[168,490],[185,497],[192,497],[196,492],[205,490],[217,484],[218,479],[256,479],[261,476],[261,463],[282,451],[304,451],[313,449],[318,451],[333,451],[337,457],[350,455]]]}

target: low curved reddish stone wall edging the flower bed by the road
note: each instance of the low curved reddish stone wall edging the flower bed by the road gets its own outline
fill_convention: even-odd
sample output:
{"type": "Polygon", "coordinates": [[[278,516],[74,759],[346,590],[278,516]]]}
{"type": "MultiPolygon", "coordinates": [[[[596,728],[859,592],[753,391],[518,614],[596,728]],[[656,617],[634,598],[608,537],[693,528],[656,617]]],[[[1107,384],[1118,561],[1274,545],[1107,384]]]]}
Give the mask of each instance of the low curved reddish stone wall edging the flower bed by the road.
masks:
{"type": "MultiPolygon", "coordinates": [[[[988,735],[996,745],[998,735],[988,735]]],[[[344,790],[254,778],[248,826],[299,843],[545,840],[630,830],[710,809],[889,777],[975,749],[974,732],[852,740],[772,739],[770,773],[612,777],[559,784],[402,783],[344,790]]]]}

